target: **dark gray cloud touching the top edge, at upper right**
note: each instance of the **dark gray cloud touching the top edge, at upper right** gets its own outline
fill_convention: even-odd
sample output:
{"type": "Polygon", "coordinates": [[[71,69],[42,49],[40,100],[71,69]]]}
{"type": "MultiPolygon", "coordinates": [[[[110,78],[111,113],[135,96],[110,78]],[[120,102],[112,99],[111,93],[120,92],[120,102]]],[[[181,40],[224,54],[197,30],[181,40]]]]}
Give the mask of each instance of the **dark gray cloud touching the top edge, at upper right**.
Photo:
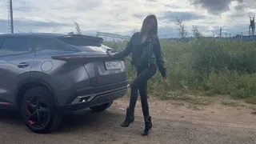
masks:
{"type": "Polygon", "coordinates": [[[211,14],[220,14],[230,10],[230,2],[242,3],[243,0],[190,0],[195,6],[206,8],[211,14]]]}

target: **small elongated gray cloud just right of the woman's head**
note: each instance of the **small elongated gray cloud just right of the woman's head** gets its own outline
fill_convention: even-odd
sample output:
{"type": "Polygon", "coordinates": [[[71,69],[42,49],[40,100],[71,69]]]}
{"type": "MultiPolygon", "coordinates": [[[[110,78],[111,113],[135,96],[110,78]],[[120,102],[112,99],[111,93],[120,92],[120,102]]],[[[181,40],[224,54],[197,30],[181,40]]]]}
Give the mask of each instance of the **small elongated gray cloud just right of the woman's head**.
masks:
{"type": "Polygon", "coordinates": [[[163,14],[162,17],[159,17],[159,19],[167,22],[175,22],[176,17],[182,19],[182,21],[190,21],[205,18],[203,15],[194,14],[190,12],[167,11],[163,14]]]}

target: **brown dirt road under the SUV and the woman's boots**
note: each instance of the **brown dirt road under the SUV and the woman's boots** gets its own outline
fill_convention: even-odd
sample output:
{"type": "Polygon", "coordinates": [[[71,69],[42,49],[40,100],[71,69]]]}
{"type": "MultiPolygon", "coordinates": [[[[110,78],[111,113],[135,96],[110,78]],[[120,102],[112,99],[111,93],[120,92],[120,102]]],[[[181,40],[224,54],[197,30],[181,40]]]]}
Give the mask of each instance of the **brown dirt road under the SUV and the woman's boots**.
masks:
{"type": "Polygon", "coordinates": [[[60,129],[52,134],[34,134],[23,125],[17,113],[0,111],[1,144],[221,144],[256,143],[256,115],[250,106],[210,104],[195,106],[186,102],[150,100],[153,130],[140,135],[143,118],[140,102],[135,122],[119,126],[125,117],[127,99],[114,102],[100,114],[82,110],[64,117],[60,129]]]}

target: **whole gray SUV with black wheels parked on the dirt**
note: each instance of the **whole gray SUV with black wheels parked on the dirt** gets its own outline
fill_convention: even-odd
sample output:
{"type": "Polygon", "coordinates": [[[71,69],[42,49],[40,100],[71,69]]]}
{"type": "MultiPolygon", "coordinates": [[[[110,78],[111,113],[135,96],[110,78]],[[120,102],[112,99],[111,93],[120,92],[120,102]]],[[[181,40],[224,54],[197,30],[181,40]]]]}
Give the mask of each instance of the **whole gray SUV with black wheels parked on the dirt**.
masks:
{"type": "Polygon", "coordinates": [[[124,60],[111,60],[102,38],[80,34],[0,34],[0,107],[19,110],[35,133],[62,114],[106,110],[126,94],[124,60]]]}

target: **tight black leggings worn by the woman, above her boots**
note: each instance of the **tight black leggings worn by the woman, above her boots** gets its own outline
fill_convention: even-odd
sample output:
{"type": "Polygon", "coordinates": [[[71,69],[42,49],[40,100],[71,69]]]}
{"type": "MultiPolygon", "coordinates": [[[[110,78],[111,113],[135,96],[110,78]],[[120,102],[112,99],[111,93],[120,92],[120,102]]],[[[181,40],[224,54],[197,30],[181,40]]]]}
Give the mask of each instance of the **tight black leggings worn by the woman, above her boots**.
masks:
{"type": "Polygon", "coordinates": [[[130,84],[130,110],[134,111],[136,102],[138,99],[138,90],[141,96],[142,102],[142,111],[144,117],[150,116],[149,104],[147,102],[147,80],[154,76],[158,68],[156,65],[150,67],[138,68],[137,69],[137,78],[134,79],[134,82],[130,84]]]}

